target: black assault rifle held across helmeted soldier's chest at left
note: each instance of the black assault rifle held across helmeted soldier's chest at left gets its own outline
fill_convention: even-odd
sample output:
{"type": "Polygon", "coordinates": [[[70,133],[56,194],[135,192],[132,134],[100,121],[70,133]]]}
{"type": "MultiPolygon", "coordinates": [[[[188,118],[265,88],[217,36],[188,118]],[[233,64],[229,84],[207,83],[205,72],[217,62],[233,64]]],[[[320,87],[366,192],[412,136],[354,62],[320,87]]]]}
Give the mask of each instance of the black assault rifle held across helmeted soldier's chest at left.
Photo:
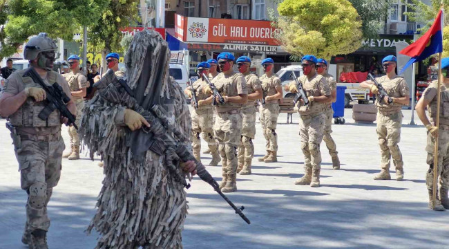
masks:
{"type": "Polygon", "coordinates": [[[48,104],[38,115],[41,120],[46,120],[53,111],[58,109],[61,113],[61,116],[68,119],[66,125],[73,124],[73,127],[75,127],[75,129],[78,129],[77,125],[75,124],[75,116],[73,116],[73,114],[68,111],[66,107],[66,104],[70,101],[70,98],[68,98],[66,93],[64,93],[62,87],[59,86],[57,82],[53,83],[52,86],[48,86],[44,83],[44,81],[41,79],[41,76],[36,73],[35,68],[33,68],[32,66],[30,66],[30,68],[28,68],[27,71],[23,73],[23,77],[31,77],[32,81],[39,84],[46,92],[46,102],[48,102],[48,104]]]}

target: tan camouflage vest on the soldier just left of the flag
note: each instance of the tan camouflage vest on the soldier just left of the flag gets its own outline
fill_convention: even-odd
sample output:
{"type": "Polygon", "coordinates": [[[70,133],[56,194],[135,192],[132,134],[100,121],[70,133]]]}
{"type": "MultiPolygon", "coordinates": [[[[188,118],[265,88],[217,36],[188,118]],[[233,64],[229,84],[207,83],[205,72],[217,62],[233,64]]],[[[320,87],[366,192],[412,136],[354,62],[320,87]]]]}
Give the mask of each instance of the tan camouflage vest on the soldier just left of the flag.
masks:
{"type": "MultiPolygon", "coordinates": [[[[390,80],[388,79],[388,76],[382,76],[377,77],[376,81],[379,82],[379,84],[382,85],[383,89],[387,92],[388,96],[394,97],[394,98],[401,98],[401,94],[399,93],[399,82],[403,80],[402,77],[395,77],[394,79],[390,80]]],[[[376,96],[378,98],[379,95],[376,96]]],[[[379,111],[401,111],[403,104],[399,103],[392,103],[392,104],[385,104],[385,102],[379,103],[379,101],[376,100],[376,107],[379,109],[379,111]]]]}

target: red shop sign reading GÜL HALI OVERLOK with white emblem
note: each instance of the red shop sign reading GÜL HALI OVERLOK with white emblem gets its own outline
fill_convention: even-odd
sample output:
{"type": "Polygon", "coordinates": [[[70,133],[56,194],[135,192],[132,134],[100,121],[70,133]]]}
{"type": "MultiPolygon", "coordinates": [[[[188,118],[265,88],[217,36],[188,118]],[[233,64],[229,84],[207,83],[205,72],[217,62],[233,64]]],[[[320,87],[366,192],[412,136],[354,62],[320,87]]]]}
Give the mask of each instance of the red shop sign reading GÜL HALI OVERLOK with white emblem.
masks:
{"type": "Polygon", "coordinates": [[[271,21],[175,15],[175,37],[182,42],[278,46],[279,31],[271,26],[271,21]]]}

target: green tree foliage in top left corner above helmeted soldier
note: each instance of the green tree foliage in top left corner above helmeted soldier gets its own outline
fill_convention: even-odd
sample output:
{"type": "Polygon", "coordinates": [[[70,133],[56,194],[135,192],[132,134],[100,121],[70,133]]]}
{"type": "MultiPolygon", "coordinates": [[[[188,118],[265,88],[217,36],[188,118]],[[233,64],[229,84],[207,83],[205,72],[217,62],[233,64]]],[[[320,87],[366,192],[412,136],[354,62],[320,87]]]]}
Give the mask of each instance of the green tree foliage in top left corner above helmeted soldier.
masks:
{"type": "Polygon", "coordinates": [[[0,59],[12,55],[28,37],[41,32],[71,40],[81,26],[97,23],[110,0],[0,0],[0,8],[2,1],[7,10],[6,19],[0,14],[0,25],[4,24],[0,30],[0,59]]]}

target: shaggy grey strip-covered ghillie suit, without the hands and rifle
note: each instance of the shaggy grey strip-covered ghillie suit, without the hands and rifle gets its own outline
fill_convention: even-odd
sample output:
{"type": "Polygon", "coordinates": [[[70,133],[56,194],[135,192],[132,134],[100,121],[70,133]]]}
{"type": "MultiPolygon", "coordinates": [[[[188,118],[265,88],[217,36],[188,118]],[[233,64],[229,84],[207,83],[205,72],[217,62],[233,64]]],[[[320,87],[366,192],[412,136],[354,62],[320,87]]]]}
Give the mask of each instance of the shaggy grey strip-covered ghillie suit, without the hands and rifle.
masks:
{"type": "MultiPolygon", "coordinates": [[[[137,33],[126,54],[124,79],[136,98],[160,98],[167,116],[173,120],[176,117],[172,124],[188,134],[189,107],[182,89],[169,77],[170,54],[166,46],[152,30],[137,33]]],[[[137,132],[114,121],[123,115],[126,103],[121,103],[119,96],[118,102],[106,100],[101,93],[108,89],[98,91],[84,107],[79,129],[84,145],[90,149],[90,158],[97,153],[104,160],[97,214],[88,227],[88,232],[95,228],[101,234],[96,248],[182,248],[181,232],[187,214],[186,193],[180,181],[184,174],[167,167],[167,161],[173,158],[148,148],[133,160],[131,147],[138,144],[133,134],[137,132]]]]}

